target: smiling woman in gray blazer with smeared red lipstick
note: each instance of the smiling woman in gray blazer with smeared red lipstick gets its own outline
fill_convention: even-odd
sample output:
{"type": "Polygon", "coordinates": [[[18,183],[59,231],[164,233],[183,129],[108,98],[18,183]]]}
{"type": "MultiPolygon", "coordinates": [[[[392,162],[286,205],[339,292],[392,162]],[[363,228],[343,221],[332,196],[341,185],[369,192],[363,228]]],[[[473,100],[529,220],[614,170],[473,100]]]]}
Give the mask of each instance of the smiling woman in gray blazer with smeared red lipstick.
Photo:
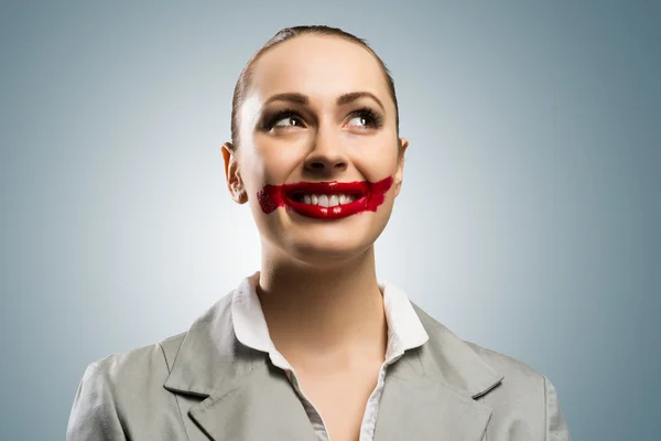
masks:
{"type": "Polygon", "coordinates": [[[362,40],[279,32],[239,77],[231,140],[261,271],[186,333],[88,366],[68,440],[568,440],[543,375],[377,282],[409,142],[362,40]]]}

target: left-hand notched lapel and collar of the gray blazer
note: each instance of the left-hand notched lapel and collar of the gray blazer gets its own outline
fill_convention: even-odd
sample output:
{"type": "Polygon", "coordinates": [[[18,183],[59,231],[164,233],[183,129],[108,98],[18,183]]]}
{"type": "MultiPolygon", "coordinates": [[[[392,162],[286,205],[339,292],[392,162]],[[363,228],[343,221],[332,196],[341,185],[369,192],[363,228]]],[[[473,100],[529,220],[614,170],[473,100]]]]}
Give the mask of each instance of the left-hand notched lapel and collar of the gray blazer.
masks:
{"type": "Polygon", "coordinates": [[[231,294],[216,302],[181,346],[163,344],[172,365],[164,387],[177,394],[189,439],[316,441],[289,379],[236,338],[230,304],[231,294]]]}

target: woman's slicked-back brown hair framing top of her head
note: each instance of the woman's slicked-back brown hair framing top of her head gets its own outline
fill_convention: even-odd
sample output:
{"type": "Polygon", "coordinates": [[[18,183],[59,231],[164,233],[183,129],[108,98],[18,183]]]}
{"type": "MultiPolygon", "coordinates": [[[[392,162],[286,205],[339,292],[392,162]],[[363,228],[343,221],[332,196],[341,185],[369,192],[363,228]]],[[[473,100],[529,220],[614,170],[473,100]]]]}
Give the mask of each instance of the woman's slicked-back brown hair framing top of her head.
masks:
{"type": "MultiPolygon", "coordinates": [[[[243,105],[243,101],[246,100],[248,94],[250,93],[250,87],[252,85],[252,73],[253,73],[254,63],[267,51],[279,45],[280,43],[284,43],[285,41],[291,40],[293,37],[296,37],[300,35],[307,35],[307,34],[330,35],[330,36],[337,36],[337,37],[347,40],[349,42],[359,44],[360,46],[365,47],[377,58],[377,61],[379,62],[379,65],[381,66],[381,69],[383,71],[383,76],[384,76],[386,83],[388,85],[388,92],[390,93],[390,98],[394,103],[394,114],[395,114],[395,125],[397,125],[395,127],[397,127],[397,133],[398,133],[398,142],[400,142],[399,141],[399,107],[397,104],[397,95],[394,93],[394,82],[392,80],[392,75],[390,74],[390,71],[388,69],[388,67],[386,66],[386,63],[383,63],[383,61],[379,57],[379,55],[376,54],[376,52],[369,46],[369,44],[367,44],[367,41],[364,39],[360,39],[354,34],[345,32],[338,28],[330,28],[330,26],[326,26],[326,25],[308,25],[308,26],[285,28],[285,29],[281,30],[271,40],[269,40],[257,53],[254,53],[254,55],[252,55],[252,57],[250,58],[250,61],[248,62],[246,67],[243,67],[243,71],[241,72],[241,75],[239,75],[239,79],[237,80],[237,85],[235,86],[234,97],[231,100],[231,143],[232,143],[234,148],[237,149],[239,147],[239,142],[240,142],[240,140],[239,140],[239,126],[240,126],[239,111],[240,111],[240,108],[243,105]]],[[[400,146],[400,148],[401,148],[401,146],[400,146]]]]}

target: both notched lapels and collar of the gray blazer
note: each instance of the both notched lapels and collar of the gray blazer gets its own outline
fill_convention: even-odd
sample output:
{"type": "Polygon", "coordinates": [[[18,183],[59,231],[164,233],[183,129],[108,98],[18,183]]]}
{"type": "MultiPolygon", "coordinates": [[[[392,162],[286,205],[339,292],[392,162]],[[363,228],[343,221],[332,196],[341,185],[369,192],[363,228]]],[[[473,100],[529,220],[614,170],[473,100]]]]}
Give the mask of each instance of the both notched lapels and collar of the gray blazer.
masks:
{"type": "MultiPolygon", "coordinates": [[[[316,441],[302,402],[269,356],[240,343],[223,297],[185,334],[164,387],[197,396],[188,416],[216,441],[316,441]]],[[[429,334],[388,368],[375,441],[478,441],[491,409],[476,401],[503,378],[466,342],[411,302],[429,334]]],[[[185,411],[185,409],[183,409],[185,411]]]]}

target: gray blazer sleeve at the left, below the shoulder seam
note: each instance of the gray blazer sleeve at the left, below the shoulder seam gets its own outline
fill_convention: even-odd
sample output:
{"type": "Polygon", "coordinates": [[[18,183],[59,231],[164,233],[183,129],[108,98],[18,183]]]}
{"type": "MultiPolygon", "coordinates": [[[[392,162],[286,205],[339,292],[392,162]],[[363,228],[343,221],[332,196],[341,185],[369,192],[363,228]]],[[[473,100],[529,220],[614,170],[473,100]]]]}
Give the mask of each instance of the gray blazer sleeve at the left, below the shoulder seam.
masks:
{"type": "Polygon", "coordinates": [[[66,441],[128,441],[107,375],[94,363],[78,385],[66,430],[66,441]]]}

